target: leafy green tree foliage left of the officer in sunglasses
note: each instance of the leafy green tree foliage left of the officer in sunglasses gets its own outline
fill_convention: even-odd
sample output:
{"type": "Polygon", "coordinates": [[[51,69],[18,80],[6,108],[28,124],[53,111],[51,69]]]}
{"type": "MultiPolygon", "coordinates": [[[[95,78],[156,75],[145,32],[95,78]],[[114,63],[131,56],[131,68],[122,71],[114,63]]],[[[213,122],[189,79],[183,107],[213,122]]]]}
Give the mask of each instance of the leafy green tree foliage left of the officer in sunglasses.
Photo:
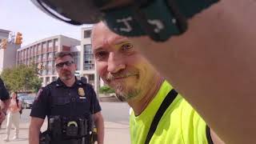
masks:
{"type": "Polygon", "coordinates": [[[6,88],[11,91],[36,92],[42,83],[42,80],[38,78],[35,65],[7,68],[2,71],[1,78],[6,88]]]}

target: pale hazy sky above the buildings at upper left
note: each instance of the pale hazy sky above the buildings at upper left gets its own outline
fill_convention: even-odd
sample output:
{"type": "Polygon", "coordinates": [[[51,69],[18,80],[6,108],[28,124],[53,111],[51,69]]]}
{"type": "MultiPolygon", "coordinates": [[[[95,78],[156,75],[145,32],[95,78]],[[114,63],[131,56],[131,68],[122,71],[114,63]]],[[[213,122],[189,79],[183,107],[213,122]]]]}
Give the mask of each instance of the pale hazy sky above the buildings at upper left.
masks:
{"type": "Polygon", "coordinates": [[[22,46],[62,34],[81,39],[81,28],[61,22],[39,10],[30,0],[0,0],[0,29],[22,33],[22,46]]]}

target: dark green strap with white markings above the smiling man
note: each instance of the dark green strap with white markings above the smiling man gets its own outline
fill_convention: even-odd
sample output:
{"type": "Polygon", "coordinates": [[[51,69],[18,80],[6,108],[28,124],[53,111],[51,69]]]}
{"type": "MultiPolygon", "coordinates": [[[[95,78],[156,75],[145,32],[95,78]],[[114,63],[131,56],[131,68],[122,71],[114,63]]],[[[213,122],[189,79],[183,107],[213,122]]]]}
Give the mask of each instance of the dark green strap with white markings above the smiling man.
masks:
{"type": "Polygon", "coordinates": [[[155,41],[166,41],[186,31],[186,19],[192,18],[219,0],[149,0],[146,5],[105,10],[110,30],[127,37],[149,35],[155,41]]]}

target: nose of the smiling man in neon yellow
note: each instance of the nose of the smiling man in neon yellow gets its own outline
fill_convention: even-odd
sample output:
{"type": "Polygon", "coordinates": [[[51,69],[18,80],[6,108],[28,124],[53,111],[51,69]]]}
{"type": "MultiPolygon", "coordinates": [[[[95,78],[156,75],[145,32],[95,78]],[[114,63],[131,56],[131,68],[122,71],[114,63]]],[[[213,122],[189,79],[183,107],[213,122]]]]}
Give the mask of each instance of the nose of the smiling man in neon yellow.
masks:
{"type": "Polygon", "coordinates": [[[126,68],[124,58],[122,54],[110,53],[108,58],[108,67],[107,70],[110,73],[117,73],[119,70],[126,68]]]}

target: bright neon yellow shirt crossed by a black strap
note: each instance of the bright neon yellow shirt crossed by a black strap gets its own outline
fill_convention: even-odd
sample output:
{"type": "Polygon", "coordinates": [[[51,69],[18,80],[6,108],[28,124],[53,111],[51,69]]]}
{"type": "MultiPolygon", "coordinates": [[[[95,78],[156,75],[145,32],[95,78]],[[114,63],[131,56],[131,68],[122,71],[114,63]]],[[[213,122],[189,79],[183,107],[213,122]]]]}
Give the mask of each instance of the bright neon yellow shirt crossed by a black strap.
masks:
{"type": "MultiPolygon", "coordinates": [[[[168,82],[163,82],[158,94],[149,106],[137,117],[130,115],[130,138],[132,144],[144,144],[154,115],[172,90],[168,82]]],[[[180,94],[166,109],[158,123],[150,144],[207,144],[206,122],[180,94]]]]}

